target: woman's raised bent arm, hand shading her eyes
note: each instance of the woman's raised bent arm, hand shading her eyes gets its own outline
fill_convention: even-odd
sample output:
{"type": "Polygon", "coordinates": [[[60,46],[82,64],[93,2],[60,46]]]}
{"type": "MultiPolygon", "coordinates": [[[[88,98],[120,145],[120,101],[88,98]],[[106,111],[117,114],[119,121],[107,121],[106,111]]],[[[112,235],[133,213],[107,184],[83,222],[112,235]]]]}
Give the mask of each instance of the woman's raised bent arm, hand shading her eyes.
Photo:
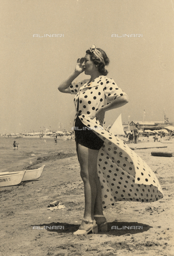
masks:
{"type": "Polygon", "coordinates": [[[76,63],[76,67],[74,72],[68,76],[59,86],[58,86],[58,90],[60,92],[64,92],[64,93],[71,93],[70,89],[69,89],[69,85],[71,85],[71,83],[73,82],[73,80],[79,76],[83,71],[84,71],[84,66],[82,66],[82,63],[84,61],[84,58],[78,59],[77,63],[76,63]]]}

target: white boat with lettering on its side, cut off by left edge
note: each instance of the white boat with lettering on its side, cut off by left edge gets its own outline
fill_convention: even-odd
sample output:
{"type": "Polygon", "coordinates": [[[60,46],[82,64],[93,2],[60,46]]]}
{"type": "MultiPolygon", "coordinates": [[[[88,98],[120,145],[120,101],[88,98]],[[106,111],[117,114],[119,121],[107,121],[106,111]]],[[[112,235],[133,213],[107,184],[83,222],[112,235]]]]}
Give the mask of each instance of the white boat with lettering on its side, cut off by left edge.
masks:
{"type": "Polygon", "coordinates": [[[26,170],[21,172],[2,172],[0,173],[0,187],[15,186],[21,183],[26,170]]]}

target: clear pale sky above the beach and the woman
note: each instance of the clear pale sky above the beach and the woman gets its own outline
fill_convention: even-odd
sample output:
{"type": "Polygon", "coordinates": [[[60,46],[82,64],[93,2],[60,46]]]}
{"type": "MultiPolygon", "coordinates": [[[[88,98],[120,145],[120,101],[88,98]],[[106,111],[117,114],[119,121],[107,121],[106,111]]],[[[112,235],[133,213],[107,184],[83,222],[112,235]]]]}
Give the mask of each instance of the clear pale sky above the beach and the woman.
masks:
{"type": "Polygon", "coordinates": [[[164,121],[164,109],[174,122],[174,1],[8,0],[0,14],[0,133],[70,130],[74,95],[57,87],[92,44],[129,97],[107,111],[106,126],[120,113],[124,123],[143,121],[144,110],[144,121],[164,121]]]}

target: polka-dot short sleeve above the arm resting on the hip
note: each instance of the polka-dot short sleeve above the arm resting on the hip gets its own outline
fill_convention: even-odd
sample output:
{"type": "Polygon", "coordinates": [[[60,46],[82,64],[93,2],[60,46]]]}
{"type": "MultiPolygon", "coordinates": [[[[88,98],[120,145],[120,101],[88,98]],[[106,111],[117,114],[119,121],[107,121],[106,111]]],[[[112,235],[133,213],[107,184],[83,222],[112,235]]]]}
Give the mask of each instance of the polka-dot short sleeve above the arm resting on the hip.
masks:
{"type": "Polygon", "coordinates": [[[108,103],[123,95],[127,95],[123,90],[121,90],[121,88],[117,86],[112,78],[107,79],[104,92],[108,103]]]}

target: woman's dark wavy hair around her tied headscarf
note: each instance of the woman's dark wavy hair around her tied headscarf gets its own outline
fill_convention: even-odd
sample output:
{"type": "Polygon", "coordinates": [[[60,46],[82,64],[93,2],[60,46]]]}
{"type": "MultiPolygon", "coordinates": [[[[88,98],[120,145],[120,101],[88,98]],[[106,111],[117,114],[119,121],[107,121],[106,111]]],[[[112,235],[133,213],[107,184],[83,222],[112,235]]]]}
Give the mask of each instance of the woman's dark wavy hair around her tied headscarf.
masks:
{"type": "Polygon", "coordinates": [[[97,56],[90,50],[87,50],[86,54],[90,54],[90,58],[94,62],[94,64],[98,66],[98,70],[99,70],[100,74],[103,76],[106,76],[108,74],[108,70],[105,69],[105,66],[107,66],[109,64],[109,58],[106,55],[106,52],[104,52],[100,48],[96,48],[96,49],[98,51],[100,51],[100,53],[102,54],[102,57],[103,57],[103,60],[105,61],[105,63],[103,63],[101,60],[99,60],[99,58],[97,58],[97,56]]]}

